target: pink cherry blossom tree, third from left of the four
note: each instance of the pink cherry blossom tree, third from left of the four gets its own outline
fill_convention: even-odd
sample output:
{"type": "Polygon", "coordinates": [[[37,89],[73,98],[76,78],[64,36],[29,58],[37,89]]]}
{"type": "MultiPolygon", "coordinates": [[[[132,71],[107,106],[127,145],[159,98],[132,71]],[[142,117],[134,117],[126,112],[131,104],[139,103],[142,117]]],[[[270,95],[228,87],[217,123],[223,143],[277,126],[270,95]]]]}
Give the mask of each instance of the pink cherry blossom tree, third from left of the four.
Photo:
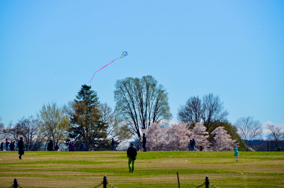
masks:
{"type": "Polygon", "coordinates": [[[207,140],[209,133],[206,131],[206,127],[202,123],[197,122],[195,124],[193,129],[190,130],[189,137],[194,138],[197,148],[202,145],[205,151],[208,150],[210,146],[210,142],[207,140]]]}

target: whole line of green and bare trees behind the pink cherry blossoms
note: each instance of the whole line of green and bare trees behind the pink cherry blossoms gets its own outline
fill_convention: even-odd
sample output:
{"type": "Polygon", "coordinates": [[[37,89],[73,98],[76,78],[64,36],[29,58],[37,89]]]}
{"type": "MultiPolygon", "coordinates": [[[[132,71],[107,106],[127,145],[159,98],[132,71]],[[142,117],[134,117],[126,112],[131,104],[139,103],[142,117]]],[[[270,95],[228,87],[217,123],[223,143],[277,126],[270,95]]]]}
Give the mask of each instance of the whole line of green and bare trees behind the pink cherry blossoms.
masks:
{"type": "MultiPolygon", "coordinates": [[[[238,118],[232,124],[227,120],[229,112],[225,109],[224,102],[213,93],[201,98],[189,97],[177,110],[177,119],[180,123],[169,125],[168,121],[171,120],[172,114],[168,104],[168,93],[162,84],[158,84],[158,81],[149,75],[117,80],[114,101],[116,105],[112,110],[107,103],[101,104],[91,86],[84,84],[76,98],[62,107],[56,103],[44,104],[35,117],[23,117],[16,124],[10,122],[7,127],[0,123],[0,140],[7,137],[18,141],[22,136],[25,140],[25,150],[30,151],[46,150],[50,139],[54,145],[74,141],[79,146],[82,141],[87,144],[88,150],[109,150],[112,138],[118,145],[130,138],[139,141],[142,132],[148,131],[150,135],[154,127],[156,131],[171,130],[171,133],[167,133],[169,136],[176,134],[174,132],[178,132],[184,126],[192,132],[197,127],[200,128],[200,124],[204,126],[202,130],[208,132],[208,143],[214,142],[216,130],[226,131],[230,139],[246,151],[251,148],[257,149],[254,141],[262,139],[263,130],[259,121],[248,116],[238,118]],[[181,127],[176,126],[181,124],[181,127]]],[[[268,125],[268,129],[270,133],[267,138],[272,140],[275,148],[279,147],[284,138],[283,131],[274,125],[268,125]]],[[[190,133],[185,136],[190,138],[190,133]]],[[[172,141],[173,138],[171,137],[172,141]]]]}

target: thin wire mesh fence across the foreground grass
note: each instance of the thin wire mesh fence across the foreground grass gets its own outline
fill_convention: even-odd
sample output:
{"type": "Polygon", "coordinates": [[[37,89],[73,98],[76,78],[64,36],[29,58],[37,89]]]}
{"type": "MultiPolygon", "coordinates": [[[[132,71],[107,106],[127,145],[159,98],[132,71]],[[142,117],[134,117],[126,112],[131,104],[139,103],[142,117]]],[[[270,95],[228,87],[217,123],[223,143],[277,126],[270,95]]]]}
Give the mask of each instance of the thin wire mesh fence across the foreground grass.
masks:
{"type": "MultiPolygon", "coordinates": [[[[37,167],[0,166],[0,187],[13,186],[17,178],[18,186],[31,187],[102,187],[103,177],[107,177],[108,187],[205,187],[205,177],[210,178],[210,187],[284,187],[284,175],[240,174],[208,172],[188,168],[135,168],[104,169],[95,167],[61,168],[38,165],[37,167]],[[177,176],[178,172],[178,176],[177,176]]],[[[207,185],[206,185],[207,186],[207,185]]]]}

